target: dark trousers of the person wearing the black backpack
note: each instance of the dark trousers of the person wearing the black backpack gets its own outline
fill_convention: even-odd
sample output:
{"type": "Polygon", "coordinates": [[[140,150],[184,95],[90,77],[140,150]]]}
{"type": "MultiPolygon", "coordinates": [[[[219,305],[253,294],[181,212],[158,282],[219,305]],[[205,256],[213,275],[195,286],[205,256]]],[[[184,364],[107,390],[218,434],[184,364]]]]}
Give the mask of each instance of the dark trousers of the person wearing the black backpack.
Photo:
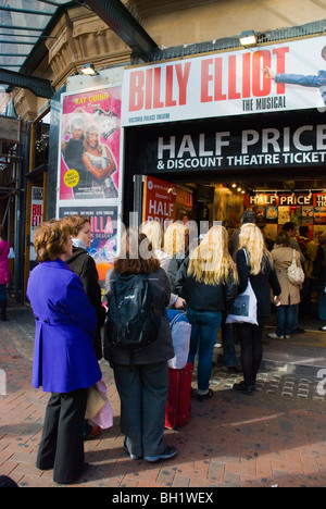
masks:
{"type": "Polygon", "coordinates": [[[165,445],[163,433],[168,389],[166,362],[113,365],[121,398],[121,431],[135,456],[156,456],[165,445]]]}

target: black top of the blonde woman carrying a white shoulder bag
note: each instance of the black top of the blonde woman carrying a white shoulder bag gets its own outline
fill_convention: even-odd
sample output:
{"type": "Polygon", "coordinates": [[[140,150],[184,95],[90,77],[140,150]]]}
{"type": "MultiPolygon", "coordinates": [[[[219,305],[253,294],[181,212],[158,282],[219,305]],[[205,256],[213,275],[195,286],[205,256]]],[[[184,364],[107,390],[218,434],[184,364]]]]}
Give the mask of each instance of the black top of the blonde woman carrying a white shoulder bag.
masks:
{"type": "Polygon", "coordinates": [[[264,270],[258,275],[250,274],[251,266],[247,264],[243,249],[237,252],[237,269],[239,274],[239,294],[246,290],[248,278],[258,300],[258,318],[267,319],[271,315],[271,287],[274,295],[280,295],[281,289],[276,272],[271,265],[269,259],[265,260],[264,270]]]}

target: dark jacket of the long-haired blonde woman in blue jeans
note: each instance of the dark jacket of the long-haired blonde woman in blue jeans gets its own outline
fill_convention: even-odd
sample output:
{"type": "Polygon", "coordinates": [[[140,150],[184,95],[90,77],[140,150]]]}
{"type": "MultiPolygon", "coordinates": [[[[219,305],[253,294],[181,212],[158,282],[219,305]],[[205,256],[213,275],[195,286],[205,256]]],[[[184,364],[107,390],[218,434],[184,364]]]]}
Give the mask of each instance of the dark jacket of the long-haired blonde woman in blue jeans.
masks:
{"type": "Polygon", "coordinates": [[[238,285],[229,275],[225,285],[206,285],[188,275],[189,257],[176,275],[176,289],[186,299],[187,306],[197,311],[228,311],[238,295],[238,285]]]}

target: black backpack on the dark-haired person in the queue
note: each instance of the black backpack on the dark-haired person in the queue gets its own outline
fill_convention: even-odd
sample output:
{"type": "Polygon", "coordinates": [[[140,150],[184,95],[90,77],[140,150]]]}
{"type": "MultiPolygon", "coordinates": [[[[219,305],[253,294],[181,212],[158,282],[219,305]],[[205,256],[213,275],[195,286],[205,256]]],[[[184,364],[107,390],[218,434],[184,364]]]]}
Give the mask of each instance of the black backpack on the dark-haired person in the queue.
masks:
{"type": "Polygon", "coordinates": [[[153,310],[146,274],[121,275],[110,282],[104,324],[104,359],[110,344],[125,350],[138,350],[153,343],[159,333],[160,314],[153,310]]]}

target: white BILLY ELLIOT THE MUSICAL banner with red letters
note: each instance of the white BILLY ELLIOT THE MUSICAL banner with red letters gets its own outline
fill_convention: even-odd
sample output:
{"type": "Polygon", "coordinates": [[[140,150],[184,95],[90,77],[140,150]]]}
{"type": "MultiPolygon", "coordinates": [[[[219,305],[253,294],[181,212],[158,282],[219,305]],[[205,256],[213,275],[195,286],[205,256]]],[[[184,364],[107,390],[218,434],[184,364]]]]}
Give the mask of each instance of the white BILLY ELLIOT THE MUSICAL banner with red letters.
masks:
{"type": "Polygon", "coordinates": [[[319,36],[126,69],[122,126],[323,109],[325,46],[319,36]]]}

